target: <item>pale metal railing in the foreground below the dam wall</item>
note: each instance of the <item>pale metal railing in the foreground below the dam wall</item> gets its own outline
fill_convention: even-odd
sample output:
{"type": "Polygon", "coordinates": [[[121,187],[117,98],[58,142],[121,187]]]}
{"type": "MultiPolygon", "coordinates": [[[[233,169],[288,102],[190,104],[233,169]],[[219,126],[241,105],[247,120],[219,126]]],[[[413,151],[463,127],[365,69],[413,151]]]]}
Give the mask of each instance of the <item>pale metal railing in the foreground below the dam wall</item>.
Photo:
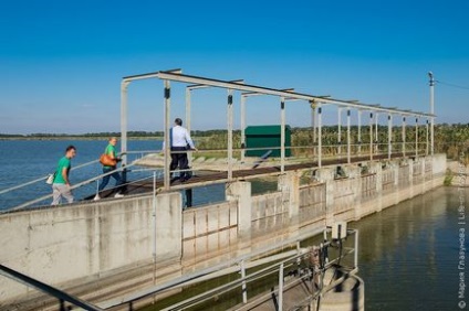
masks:
{"type": "MultiPolygon", "coordinates": [[[[329,227],[326,230],[324,230],[324,236],[326,236],[327,233],[331,233],[331,228],[329,227]]],[[[316,234],[316,233],[315,233],[316,234]]],[[[343,239],[332,239],[326,240],[322,243],[320,246],[313,246],[313,247],[306,247],[301,248],[300,242],[304,240],[313,234],[306,234],[300,238],[289,239],[281,245],[273,245],[269,246],[262,249],[259,249],[258,251],[251,253],[247,256],[241,256],[239,258],[234,258],[229,260],[229,262],[223,262],[216,265],[213,267],[197,271],[195,274],[189,274],[181,276],[179,278],[173,279],[170,281],[160,283],[158,286],[155,286],[153,288],[148,288],[146,290],[142,290],[138,292],[134,292],[131,294],[127,294],[126,297],[122,297],[119,299],[113,299],[105,302],[100,303],[101,308],[108,309],[114,308],[117,305],[133,305],[135,302],[137,302],[140,299],[148,298],[154,294],[164,293],[167,291],[171,291],[175,289],[180,288],[187,288],[190,286],[195,286],[197,283],[200,283],[202,281],[207,281],[210,279],[219,278],[221,276],[227,276],[230,274],[238,274],[240,278],[228,281],[222,286],[218,286],[216,288],[211,288],[204,293],[197,294],[195,297],[191,297],[189,299],[186,299],[184,301],[179,301],[175,304],[171,304],[169,307],[166,307],[161,310],[185,310],[194,307],[200,307],[201,303],[212,299],[213,297],[220,297],[225,293],[230,293],[232,291],[241,292],[241,297],[239,297],[239,301],[241,304],[246,304],[249,302],[249,299],[253,298],[256,293],[253,293],[251,297],[248,297],[248,286],[252,285],[259,280],[264,280],[265,278],[270,278],[272,276],[278,276],[277,279],[277,288],[273,292],[269,291],[263,296],[263,298],[268,298],[272,296],[273,293],[278,296],[279,301],[279,309],[282,310],[282,296],[283,296],[283,286],[285,277],[288,277],[289,272],[295,271],[296,276],[299,276],[299,281],[302,280],[322,280],[323,275],[325,270],[331,268],[334,265],[338,265],[342,261],[342,259],[353,255],[352,258],[352,266],[350,268],[350,274],[355,274],[358,270],[358,232],[355,229],[347,229],[347,235],[353,235],[353,246],[352,247],[344,247],[343,239]],[[265,257],[265,254],[272,254],[273,250],[282,248],[284,249],[288,245],[296,245],[295,250],[288,250],[281,254],[277,255],[270,255],[265,257]],[[330,247],[340,247],[337,251],[337,256],[333,259],[329,258],[329,254],[331,251],[327,251],[327,248],[330,247]],[[322,258],[312,258],[314,254],[321,254],[322,258]],[[262,257],[262,255],[264,257],[262,257]],[[260,258],[251,261],[254,258],[260,258]],[[320,260],[317,265],[314,265],[314,267],[309,266],[314,260],[320,260]],[[265,265],[269,265],[265,267],[265,265]],[[260,268],[260,269],[259,269],[260,268]],[[253,269],[254,271],[249,272],[249,270],[253,269]],[[241,291],[239,291],[241,289],[241,291]]],[[[343,237],[345,238],[345,237],[343,237]]],[[[320,294],[323,294],[324,292],[329,291],[333,286],[335,286],[336,282],[331,282],[330,285],[319,283],[317,291],[313,292],[310,297],[310,300],[315,300],[320,294]]],[[[256,299],[259,299],[257,296],[256,299]]]]}

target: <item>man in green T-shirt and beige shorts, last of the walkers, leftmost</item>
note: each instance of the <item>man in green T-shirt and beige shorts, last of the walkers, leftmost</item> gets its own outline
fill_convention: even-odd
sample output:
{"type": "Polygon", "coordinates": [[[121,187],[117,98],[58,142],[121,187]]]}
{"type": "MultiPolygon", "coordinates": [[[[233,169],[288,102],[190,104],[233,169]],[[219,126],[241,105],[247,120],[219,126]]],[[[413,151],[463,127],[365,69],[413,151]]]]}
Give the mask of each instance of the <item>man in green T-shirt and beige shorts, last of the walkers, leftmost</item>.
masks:
{"type": "Polygon", "coordinates": [[[52,203],[51,205],[59,205],[62,197],[69,203],[73,203],[73,194],[70,185],[70,170],[72,169],[72,159],[76,156],[76,148],[69,146],[65,149],[65,156],[59,160],[58,169],[54,173],[52,182],[52,203]]]}

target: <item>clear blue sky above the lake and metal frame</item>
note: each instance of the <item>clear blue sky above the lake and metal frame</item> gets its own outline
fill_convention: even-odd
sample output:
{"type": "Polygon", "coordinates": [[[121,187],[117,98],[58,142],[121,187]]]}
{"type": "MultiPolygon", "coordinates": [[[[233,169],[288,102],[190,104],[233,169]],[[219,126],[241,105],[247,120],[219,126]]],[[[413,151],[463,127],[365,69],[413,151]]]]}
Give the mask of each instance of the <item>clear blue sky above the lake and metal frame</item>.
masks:
{"type": "MultiPolygon", "coordinates": [[[[122,77],[171,68],[416,111],[429,111],[431,71],[437,122],[466,124],[468,12],[467,0],[4,0],[0,133],[119,131],[122,77]]],[[[129,129],[163,130],[163,82],[128,92],[129,129]]],[[[192,128],[226,128],[226,92],[192,97],[192,128]]],[[[275,98],[248,106],[248,125],[279,120],[275,98]]],[[[288,119],[306,125],[308,109],[288,119]]]]}

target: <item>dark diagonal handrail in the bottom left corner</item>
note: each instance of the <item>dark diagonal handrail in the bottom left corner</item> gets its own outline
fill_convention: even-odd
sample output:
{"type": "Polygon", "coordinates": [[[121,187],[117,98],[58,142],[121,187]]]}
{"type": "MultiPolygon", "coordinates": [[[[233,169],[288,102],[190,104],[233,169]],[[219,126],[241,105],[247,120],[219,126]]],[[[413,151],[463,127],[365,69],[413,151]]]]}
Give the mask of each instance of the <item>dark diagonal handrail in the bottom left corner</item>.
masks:
{"type": "Polygon", "coordinates": [[[56,289],[52,286],[49,286],[44,282],[41,282],[37,279],[33,279],[31,277],[28,277],[27,275],[23,275],[21,272],[18,272],[13,269],[10,269],[3,265],[0,265],[0,275],[10,278],[19,283],[22,283],[28,287],[35,288],[40,291],[43,291],[50,296],[53,296],[60,300],[61,309],[60,310],[66,310],[63,305],[63,301],[67,301],[76,307],[83,308],[85,310],[90,311],[103,311],[104,309],[101,309],[100,307],[96,307],[94,304],[91,304],[90,302],[86,302],[84,300],[81,300],[80,298],[76,298],[70,293],[66,293],[60,289],[56,289]]]}

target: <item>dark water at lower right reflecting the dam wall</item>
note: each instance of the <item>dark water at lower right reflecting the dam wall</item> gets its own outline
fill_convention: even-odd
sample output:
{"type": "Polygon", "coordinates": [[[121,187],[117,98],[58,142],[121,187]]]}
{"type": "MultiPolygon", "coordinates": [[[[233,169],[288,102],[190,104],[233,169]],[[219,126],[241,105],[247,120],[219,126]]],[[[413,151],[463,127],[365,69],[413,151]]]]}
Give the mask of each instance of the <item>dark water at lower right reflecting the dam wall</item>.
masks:
{"type": "Polygon", "coordinates": [[[440,187],[351,224],[367,310],[458,309],[459,196],[440,187]]]}

